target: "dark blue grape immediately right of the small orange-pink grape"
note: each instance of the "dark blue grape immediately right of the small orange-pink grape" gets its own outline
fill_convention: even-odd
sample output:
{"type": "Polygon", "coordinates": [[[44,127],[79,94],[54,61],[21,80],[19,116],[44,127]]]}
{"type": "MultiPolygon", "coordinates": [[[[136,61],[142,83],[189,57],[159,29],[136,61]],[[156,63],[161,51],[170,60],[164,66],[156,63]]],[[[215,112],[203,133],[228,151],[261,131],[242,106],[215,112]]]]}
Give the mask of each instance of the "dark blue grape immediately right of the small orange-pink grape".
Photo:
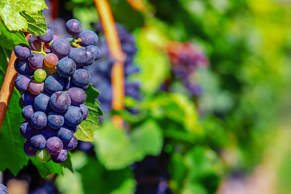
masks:
{"type": "Polygon", "coordinates": [[[76,64],[70,58],[60,59],[57,65],[57,72],[65,78],[71,77],[76,71],[76,64]]]}

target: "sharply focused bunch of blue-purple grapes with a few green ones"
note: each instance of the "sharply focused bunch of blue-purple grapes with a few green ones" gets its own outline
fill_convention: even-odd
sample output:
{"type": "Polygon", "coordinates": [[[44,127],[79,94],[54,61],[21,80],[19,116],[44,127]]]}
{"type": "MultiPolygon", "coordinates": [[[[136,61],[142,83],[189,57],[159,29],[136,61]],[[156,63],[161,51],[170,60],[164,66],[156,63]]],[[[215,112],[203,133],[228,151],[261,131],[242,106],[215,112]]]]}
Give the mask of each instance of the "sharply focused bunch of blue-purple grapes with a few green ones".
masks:
{"type": "Polygon", "coordinates": [[[91,76],[83,66],[99,59],[98,36],[89,30],[81,32],[75,19],[65,29],[72,38],[59,39],[48,26],[47,33],[37,36],[30,47],[20,44],[14,49],[15,87],[23,92],[19,105],[25,119],[20,126],[27,139],[24,152],[40,162],[65,162],[67,150],[78,143],[74,133],[89,114],[83,103],[91,76]]]}

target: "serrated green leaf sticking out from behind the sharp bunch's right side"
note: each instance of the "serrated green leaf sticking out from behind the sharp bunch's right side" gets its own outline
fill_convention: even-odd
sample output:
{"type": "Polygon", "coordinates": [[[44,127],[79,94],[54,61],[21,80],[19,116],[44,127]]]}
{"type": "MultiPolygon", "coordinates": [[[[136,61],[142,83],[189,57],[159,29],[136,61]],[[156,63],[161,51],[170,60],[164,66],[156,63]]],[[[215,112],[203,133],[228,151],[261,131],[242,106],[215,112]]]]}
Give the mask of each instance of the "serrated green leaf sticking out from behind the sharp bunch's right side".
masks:
{"type": "Polygon", "coordinates": [[[89,109],[89,115],[85,121],[79,125],[79,129],[75,132],[75,136],[78,140],[92,142],[94,131],[100,127],[98,117],[103,115],[103,111],[99,106],[99,102],[95,100],[100,92],[96,90],[92,84],[89,84],[88,89],[85,90],[86,101],[85,105],[89,109]]]}

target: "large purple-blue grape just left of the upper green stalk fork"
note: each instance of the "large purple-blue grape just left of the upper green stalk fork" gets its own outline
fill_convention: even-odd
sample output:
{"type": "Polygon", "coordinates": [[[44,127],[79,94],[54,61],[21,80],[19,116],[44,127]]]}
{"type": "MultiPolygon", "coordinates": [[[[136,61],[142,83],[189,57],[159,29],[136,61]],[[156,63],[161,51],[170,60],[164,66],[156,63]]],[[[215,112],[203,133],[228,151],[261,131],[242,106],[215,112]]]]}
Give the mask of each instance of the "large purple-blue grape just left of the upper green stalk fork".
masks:
{"type": "Polygon", "coordinates": [[[64,58],[69,55],[71,44],[65,39],[59,39],[51,44],[51,52],[57,55],[58,58],[64,58]]]}

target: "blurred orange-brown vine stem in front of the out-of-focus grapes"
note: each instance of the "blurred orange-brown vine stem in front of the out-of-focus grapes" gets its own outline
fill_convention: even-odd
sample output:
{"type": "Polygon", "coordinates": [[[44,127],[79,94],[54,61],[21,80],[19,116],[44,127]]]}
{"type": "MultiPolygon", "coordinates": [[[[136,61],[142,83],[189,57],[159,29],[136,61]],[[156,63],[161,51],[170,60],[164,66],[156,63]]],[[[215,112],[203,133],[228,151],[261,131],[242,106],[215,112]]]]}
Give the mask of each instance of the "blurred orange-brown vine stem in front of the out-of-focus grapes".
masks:
{"type": "MultiPolygon", "coordinates": [[[[109,46],[110,55],[115,59],[111,70],[112,82],[112,109],[120,111],[124,109],[124,60],[119,37],[115,28],[115,22],[110,5],[107,0],[94,0],[103,31],[109,46]]],[[[113,115],[112,122],[115,127],[122,129],[123,118],[113,115]]]]}

